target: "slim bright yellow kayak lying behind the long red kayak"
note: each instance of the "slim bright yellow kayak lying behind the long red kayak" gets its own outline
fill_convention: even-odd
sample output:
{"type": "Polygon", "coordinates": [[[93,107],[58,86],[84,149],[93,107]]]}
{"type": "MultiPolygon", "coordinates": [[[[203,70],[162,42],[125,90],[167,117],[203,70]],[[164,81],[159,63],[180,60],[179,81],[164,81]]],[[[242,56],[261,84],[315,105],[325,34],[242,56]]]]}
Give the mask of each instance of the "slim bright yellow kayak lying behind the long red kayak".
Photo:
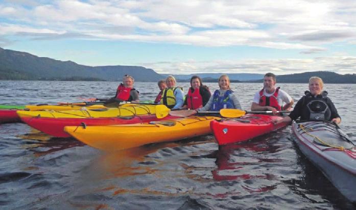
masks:
{"type": "Polygon", "coordinates": [[[87,109],[79,110],[47,110],[47,111],[17,111],[20,117],[49,117],[49,118],[95,118],[95,117],[124,117],[133,115],[155,114],[156,105],[130,105],[118,108],[87,109]]]}

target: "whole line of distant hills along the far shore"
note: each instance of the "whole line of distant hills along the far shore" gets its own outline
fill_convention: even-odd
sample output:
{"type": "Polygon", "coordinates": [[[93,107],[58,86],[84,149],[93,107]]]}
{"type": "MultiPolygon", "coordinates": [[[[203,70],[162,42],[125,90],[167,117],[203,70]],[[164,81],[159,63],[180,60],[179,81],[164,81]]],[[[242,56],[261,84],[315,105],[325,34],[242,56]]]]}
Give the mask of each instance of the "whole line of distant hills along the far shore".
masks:
{"type": "MultiPolygon", "coordinates": [[[[85,66],[73,61],[58,61],[29,54],[28,52],[0,47],[0,80],[66,80],[66,81],[121,81],[129,74],[139,82],[157,82],[170,74],[158,74],[142,66],[85,66]]],[[[217,82],[224,73],[174,74],[179,82],[189,82],[199,75],[204,82],[217,82]]],[[[263,82],[258,73],[227,73],[231,82],[263,82]]],[[[356,74],[338,74],[331,71],[304,72],[277,75],[278,83],[307,83],[311,76],[321,77],[325,83],[356,84],[356,74]]]]}

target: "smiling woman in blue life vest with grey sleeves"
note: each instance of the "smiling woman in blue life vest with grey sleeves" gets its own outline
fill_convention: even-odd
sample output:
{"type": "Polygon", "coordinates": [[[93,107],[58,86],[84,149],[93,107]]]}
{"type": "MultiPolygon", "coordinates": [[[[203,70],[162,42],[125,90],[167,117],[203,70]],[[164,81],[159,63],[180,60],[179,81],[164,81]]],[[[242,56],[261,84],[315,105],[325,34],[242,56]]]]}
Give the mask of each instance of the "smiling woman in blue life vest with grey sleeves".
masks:
{"type": "Polygon", "coordinates": [[[241,109],[238,98],[230,88],[230,80],[226,74],[219,77],[219,90],[216,90],[204,107],[197,111],[220,111],[221,109],[241,109]]]}

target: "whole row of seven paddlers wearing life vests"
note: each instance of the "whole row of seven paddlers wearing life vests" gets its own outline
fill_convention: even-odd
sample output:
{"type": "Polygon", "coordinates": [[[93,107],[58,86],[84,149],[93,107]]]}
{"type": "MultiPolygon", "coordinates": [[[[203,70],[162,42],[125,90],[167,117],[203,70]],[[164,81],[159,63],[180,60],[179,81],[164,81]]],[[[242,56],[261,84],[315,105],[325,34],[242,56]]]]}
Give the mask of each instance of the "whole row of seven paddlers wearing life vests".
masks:
{"type": "MultiPolygon", "coordinates": [[[[170,109],[192,109],[197,111],[219,111],[221,109],[241,109],[238,97],[230,88],[230,80],[226,74],[219,77],[219,89],[212,94],[207,86],[203,85],[199,76],[191,78],[191,87],[184,97],[183,89],[176,86],[173,76],[158,81],[160,92],[155,103],[164,104],[170,109]]],[[[115,98],[131,102],[139,102],[138,91],[133,88],[134,78],[130,75],[123,77],[123,83],[117,87],[115,98]]],[[[334,103],[323,91],[323,81],[320,77],[312,76],[309,79],[309,91],[301,97],[294,109],[294,100],[285,91],[276,87],[276,76],[273,73],[264,75],[264,87],[253,97],[251,111],[291,111],[289,116],[274,123],[289,122],[300,117],[301,120],[328,120],[340,123],[341,118],[334,103]]]]}

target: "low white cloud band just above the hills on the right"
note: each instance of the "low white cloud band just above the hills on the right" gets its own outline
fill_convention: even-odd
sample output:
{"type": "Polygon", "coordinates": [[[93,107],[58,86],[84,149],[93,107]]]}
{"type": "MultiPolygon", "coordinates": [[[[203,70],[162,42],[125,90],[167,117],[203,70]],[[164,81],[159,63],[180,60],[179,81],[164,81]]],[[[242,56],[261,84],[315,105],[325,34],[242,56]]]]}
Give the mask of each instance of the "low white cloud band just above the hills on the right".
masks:
{"type": "Polygon", "coordinates": [[[356,57],[320,57],[314,59],[215,60],[143,63],[158,73],[302,73],[306,71],[356,72],[356,57]]]}

